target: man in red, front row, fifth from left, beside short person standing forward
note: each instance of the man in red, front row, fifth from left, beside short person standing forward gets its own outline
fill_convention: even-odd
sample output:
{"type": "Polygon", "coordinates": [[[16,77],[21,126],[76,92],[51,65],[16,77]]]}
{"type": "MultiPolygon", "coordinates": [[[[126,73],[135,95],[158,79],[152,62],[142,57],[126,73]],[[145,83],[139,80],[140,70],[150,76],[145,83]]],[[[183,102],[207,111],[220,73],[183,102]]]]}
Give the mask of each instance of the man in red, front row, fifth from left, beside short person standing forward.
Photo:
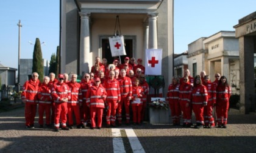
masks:
{"type": "Polygon", "coordinates": [[[82,102],[82,106],[80,109],[80,117],[81,122],[83,124],[82,127],[85,127],[88,123],[90,123],[90,108],[87,106],[86,103],[86,95],[88,89],[94,84],[90,81],[90,74],[85,73],[84,78],[81,80],[80,84],[82,92],[82,98],[80,98],[80,101],[82,102]]]}

